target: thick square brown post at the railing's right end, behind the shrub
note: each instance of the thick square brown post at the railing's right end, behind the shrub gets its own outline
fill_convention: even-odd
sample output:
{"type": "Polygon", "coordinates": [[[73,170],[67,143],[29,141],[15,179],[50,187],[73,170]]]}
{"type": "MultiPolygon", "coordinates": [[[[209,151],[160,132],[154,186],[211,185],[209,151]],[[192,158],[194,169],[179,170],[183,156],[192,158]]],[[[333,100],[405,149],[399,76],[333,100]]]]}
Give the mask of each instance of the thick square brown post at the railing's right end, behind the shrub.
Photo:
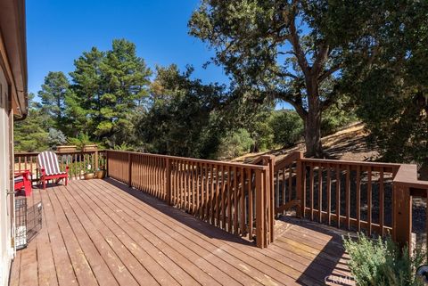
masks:
{"type": "Polygon", "coordinates": [[[393,227],[392,237],[400,247],[408,245],[412,249],[412,197],[406,184],[393,184],[393,227]]]}

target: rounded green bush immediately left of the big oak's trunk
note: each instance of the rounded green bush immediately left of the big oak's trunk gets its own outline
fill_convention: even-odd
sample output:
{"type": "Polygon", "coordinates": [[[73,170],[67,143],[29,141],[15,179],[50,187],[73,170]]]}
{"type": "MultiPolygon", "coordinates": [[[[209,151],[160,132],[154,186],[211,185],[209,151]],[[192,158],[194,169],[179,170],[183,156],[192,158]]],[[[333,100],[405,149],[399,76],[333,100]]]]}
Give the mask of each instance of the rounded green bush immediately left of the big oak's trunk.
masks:
{"type": "Polygon", "coordinates": [[[291,147],[303,137],[303,120],[293,110],[274,112],[269,125],[273,130],[274,143],[281,147],[291,147]]]}

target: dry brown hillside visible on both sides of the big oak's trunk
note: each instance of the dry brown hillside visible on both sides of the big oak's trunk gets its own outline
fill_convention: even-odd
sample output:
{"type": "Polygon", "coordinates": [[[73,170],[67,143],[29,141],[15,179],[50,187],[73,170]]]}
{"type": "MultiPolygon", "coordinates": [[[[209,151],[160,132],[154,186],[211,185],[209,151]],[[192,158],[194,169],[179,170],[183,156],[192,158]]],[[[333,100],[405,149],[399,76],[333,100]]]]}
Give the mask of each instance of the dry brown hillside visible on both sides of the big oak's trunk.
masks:
{"type": "MultiPolygon", "coordinates": [[[[333,135],[325,136],[322,139],[325,151],[332,159],[369,161],[378,157],[378,152],[366,144],[368,133],[363,123],[355,123],[333,135]]],[[[282,159],[293,151],[305,151],[305,144],[299,143],[292,148],[277,149],[259,153],[248,153],[241,157],[231,159],[236,162],[248,162],[263,154],[273,154],[276,159],[282,159]]]]}

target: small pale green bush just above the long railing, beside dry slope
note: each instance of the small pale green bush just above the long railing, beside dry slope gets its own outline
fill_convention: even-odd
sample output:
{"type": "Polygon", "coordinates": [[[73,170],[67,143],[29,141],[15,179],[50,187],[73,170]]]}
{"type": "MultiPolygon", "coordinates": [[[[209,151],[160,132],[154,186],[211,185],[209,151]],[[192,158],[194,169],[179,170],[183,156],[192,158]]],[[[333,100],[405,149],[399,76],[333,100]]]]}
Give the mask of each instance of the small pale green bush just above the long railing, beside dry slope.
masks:
{"type": "Polygon", "coordinates": [[[246,129],[228,133],[218,148],[219,158],[235,158],[251,151],[254,139],[246,129]]]}

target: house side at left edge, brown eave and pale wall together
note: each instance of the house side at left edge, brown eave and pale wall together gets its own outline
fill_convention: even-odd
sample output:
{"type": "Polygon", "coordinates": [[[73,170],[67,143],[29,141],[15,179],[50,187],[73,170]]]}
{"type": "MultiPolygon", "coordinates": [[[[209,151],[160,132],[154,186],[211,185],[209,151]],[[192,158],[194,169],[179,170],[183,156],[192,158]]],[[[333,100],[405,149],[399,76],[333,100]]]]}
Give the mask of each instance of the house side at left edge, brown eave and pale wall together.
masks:
{"type": "Polygon", "coordinates": [[[14,249],[13,120],[25,119],[25,0],[0,0],[0,285],[7,285],[14,249]]]}

